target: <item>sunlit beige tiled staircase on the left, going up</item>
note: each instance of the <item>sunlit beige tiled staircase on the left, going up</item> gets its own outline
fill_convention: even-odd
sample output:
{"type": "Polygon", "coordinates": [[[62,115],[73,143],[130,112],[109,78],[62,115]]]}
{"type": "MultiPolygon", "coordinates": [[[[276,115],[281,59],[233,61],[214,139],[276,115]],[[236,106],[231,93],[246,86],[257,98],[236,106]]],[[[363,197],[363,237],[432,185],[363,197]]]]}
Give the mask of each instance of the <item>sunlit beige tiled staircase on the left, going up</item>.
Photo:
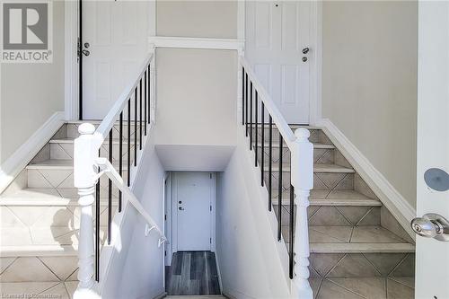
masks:
{"type": "MultiPolygon", "coordinates": [[[[70,122],[60,128],[0,196],[0,288],[3,294],[68,298],[75,292],[80,217],[73,153],[79,124],[70,122]]],[[[127,145],[125,140],[124,156],[128,153],[127,145]]],[[[113,140],[113,146],[118,147],[118,141],[113,140]]],[[[108,149],[106,141],[101,155],[107,157],[108,149]]],[[[113,153],[113,163],[117,163],[119,150],[114,148],[113,153]]],[[[123,165],[126,178],[127,163],[123,165]]],[[[102,178],[100,185],[101,243],[104,243],[108,224],[108,180],[102,178]]],[[[118,205],[117,194],[117,189],[113,189],[112,215],[118,205]]]]}

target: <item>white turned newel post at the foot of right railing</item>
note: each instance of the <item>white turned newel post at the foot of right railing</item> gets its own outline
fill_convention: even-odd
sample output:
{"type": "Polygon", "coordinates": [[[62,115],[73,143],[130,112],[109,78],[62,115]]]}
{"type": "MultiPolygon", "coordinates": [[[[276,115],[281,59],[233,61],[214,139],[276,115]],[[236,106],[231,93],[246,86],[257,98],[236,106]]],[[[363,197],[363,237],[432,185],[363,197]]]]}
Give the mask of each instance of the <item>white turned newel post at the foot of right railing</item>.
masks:
{"type": "Polygon", "coordinates": [[[309,141],[310,132],[306,128],[295,130],[295,145],[292,150],[292,185],[295,187],[295,277],[296,298],[313,299],[309,284],[309,207],[310,190],[313,189],[313,144],[309,141]]]}

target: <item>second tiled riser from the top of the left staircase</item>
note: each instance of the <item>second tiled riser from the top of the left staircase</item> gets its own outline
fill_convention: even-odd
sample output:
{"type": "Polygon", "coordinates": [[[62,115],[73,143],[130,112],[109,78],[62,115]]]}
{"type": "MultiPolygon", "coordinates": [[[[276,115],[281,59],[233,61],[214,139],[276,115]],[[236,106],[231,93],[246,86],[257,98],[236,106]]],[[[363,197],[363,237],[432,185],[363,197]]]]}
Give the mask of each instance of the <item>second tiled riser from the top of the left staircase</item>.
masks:
{"type": "MultiPolygon", "coordinates": [[[[134,162],[134,145],[131,145],[131,163],[134,162]]],[[[50,159],[54,160],[73,160],[74,145],[66,143],[50,144],[50,159]]],[[[109,144],[101,145],[101,156],[109,158],[109,144]]],[[[112,161],[119,161],[119,144],[112,145],[112,161]]],[[[122,161],[128,161],[128,145],[122,145],[122,161]]]]}

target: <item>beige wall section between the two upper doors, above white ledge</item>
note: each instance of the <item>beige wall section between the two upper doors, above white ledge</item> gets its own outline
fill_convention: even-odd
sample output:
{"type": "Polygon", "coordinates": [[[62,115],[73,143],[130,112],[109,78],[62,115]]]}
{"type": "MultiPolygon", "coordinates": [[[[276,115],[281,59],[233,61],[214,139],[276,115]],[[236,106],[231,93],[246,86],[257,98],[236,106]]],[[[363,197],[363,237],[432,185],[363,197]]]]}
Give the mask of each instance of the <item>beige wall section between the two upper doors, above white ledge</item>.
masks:
{"type": "Polygon", "coordinates": [[[159,36],[235,39],[237,1],[156,1],[159,36]]]}

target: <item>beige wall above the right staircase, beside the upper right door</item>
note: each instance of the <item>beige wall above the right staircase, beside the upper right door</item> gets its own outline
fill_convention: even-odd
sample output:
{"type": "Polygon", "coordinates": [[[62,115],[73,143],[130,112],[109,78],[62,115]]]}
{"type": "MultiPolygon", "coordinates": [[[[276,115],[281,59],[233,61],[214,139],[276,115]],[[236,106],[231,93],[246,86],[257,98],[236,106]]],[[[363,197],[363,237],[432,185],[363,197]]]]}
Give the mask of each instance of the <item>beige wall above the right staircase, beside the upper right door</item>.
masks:
{"type": "Polygon", "coordinates": [[[418,2],[326,1],[322,114],[416,205],[418,2]]]}

